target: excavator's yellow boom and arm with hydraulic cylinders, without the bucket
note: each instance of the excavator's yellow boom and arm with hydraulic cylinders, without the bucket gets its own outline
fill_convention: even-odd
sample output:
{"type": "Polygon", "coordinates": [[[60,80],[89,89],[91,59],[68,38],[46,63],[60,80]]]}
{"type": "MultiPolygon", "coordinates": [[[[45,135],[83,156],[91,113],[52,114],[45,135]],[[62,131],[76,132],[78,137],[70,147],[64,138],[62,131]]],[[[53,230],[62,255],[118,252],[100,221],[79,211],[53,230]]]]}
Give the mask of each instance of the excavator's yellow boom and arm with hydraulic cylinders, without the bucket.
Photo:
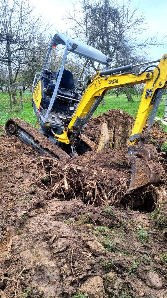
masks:
{"type": "MultiPolygon", "coordinates": [[[[82,99],[79,102],[75,113],[72,116],[72,119],[70,120],[68,127],[64,128],[64,131],[61,135],[55,134],[54,138],[66,144],[73,143],[74,139],[83,128],[83,125],[85,125],[92,117],[94,111],[96,110],[97,106],[100,104],[102,98],[108,90],[123,86],[146,83],[130,138],[130,145],[135,145],[136,139],[139,138],[139,134],[143,130],[149,112],[152,110],[153,106],[156,105],[156,107],[152,111],[150,124],[152,124],[152,121],[154,121],[156,111],[160,103],[160,96],[162,96],[162,92],[158,90],[166,88],[166,57],[167,54],[163,55],[158,66],[155,66],[155,69],[149,72],[101,76],[100,72],[97,71],[92,78],[91,83],[86,88],[82,99]]],[[[105,71],[102,72],[102,74],[103,73],[105,73],[105,71]]]]}

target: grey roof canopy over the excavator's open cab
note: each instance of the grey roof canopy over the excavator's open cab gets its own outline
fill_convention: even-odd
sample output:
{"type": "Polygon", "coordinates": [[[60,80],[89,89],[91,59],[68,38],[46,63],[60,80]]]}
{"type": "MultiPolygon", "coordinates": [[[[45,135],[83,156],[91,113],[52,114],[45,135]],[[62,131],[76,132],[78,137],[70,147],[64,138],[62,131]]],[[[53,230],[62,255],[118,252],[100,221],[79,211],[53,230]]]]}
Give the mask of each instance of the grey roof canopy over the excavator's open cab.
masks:
{"type": "Polygon", "coordinates": [[[108,57],[104,55],[97,49],[92,48],[92,46],[88,46],[87,44],[83,44],[81,41],[76,41],[73,38],[70,38],[64,34],[56,33],[52,40],[52,46],[57,46],[58,44],[66,45],[70,42],[69,52],[73,52],[77,55],[86,57],[88,59],[97,61],[102,64],[108,64],[108,57]]]}

